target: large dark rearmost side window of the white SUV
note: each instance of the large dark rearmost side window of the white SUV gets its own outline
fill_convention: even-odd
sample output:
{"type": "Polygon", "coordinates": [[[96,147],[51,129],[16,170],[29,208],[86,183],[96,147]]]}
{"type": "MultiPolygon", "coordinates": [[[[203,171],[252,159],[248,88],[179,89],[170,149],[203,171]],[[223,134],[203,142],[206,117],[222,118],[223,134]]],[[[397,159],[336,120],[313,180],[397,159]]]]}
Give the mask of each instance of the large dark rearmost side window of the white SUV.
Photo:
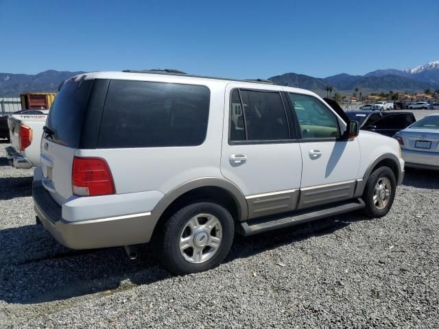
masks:
{"type": "Polygon", "coordinates": [[[97,147],[200,145],[209,103],[206,86],[112,80],[97,147]]]}

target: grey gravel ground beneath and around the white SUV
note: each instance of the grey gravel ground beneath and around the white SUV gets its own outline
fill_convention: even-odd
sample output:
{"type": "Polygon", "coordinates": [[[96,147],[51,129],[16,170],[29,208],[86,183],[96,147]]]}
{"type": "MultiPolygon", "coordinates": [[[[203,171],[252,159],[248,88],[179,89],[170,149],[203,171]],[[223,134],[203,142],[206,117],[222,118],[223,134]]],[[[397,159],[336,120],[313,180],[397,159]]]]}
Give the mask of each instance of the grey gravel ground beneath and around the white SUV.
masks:
{"type": "Polygon", "coordinates": [[[0,141],[0,328],[439,326],[439,175],[408,171],[382,219],[237,236],[217,269],[172,277],[147,245],[69,250],[34,225],[32,170],[0,141]]]}

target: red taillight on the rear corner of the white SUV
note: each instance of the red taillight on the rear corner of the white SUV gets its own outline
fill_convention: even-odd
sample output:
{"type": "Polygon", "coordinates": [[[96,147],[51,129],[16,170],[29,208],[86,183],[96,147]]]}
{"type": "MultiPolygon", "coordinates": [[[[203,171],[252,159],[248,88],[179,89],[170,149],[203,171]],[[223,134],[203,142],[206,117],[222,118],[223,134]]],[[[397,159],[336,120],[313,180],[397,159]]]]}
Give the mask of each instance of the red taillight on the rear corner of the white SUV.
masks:
{"type": "Polygon", "coordinates": [[[71,175],[73,194],[79,196],[115,194],[108,164],[101,158],[73,158],[71,175]]]}

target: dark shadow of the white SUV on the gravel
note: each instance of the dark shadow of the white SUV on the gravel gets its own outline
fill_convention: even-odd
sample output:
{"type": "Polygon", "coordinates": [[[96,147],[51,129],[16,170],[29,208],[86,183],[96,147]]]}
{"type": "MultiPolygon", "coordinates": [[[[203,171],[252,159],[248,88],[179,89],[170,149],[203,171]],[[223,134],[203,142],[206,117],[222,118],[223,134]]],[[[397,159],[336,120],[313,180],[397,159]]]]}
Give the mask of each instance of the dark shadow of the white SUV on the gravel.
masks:
{"type": "MultiPolygon", "coordinates": [[[[257,236],[236,236],[225,263],[329,234],[362,219],[351,213],[257,236]]],[[[68,249],[37,225],[0,230],[0,249],[0,300],[8,303],[53,302],[91,293],[112,295],[171,278],[148,244],[138,245],[139,257],[129,260],[122,247],[68,249]]]]}

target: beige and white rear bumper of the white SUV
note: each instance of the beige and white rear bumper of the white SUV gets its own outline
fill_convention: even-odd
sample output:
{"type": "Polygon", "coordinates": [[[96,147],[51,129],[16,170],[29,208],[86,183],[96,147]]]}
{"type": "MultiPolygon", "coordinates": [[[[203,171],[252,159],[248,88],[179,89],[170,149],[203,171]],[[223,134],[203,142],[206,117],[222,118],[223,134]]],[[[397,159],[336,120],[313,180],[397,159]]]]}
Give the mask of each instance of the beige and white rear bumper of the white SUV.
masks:
{"type": "Polygon", "coordinates": [[[62,207],[52,199],[40,180],[32,184],[34,210],[46,230],[72,249],[116,247],[149,242],[158,218],[152,212],[85,221],[62,218],[62,207]]]}

